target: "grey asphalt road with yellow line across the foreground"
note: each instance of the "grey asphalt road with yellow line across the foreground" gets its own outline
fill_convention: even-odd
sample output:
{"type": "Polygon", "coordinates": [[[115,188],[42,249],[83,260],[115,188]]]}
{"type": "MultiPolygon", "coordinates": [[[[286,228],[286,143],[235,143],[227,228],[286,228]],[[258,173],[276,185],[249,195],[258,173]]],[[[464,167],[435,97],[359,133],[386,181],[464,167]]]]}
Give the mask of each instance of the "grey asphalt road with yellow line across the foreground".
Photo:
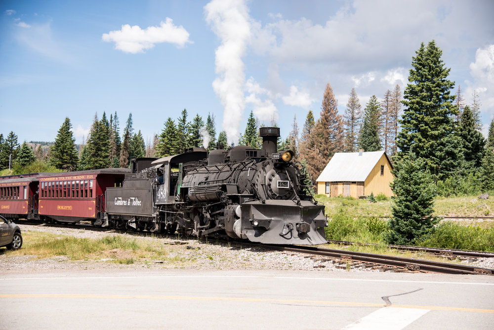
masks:
{"type": "Polygon", "coordinates": [[[0,275],[0,329],[493,329],[494,277],[163,270],[0,275]]]}

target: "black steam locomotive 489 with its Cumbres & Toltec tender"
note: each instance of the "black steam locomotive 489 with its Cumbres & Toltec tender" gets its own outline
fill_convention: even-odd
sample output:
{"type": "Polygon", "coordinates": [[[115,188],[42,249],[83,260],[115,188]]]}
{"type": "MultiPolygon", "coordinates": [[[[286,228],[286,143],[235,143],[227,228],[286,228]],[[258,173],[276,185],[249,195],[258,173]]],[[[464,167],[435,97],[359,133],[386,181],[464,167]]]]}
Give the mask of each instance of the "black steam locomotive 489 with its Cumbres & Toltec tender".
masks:
{"type": "Polygon", "coordinates": [[[106,189],[95,225],[227,235],[266,244],[326,243],[324,206],[305,192],[293,152],[277,151],[278,127],[261,127],[262,149],[192,148],[132,163],[122,187],[106,189]]]}

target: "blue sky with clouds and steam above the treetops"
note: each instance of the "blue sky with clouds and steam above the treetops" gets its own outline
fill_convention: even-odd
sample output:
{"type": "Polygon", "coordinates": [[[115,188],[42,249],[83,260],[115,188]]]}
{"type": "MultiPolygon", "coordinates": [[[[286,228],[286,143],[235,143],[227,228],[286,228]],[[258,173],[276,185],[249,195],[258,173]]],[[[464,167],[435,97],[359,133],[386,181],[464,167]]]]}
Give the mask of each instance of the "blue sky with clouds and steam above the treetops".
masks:
{"type": "MultiPolygon", "coordinates": [[[[0,2],[0,133],[77,143],[97,113],[132,113],[145,140],[187,109],[237,142],[250,111],[282,136],[330,83],[342,114],[406,86],[420,42],[435,40],[450,79],[494,115],[494,1],[0,2]]],[[[121,128],[122,131],[122,128],[121,128]]]]}

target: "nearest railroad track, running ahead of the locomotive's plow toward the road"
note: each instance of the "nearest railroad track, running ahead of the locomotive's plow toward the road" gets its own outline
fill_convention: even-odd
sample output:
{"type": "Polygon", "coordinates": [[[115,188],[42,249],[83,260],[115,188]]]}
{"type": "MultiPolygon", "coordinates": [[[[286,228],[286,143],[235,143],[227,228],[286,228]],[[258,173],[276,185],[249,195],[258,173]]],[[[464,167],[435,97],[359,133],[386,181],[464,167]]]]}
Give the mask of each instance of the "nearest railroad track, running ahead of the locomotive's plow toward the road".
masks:
{"type": "Polygon", "coordinates": [[[383,270],[397,270],[397,271],[421,271],[421,272],[434,272],[443,274],[485,274],[494,275],[493,269],[472,267],[460,264],[451,264],[445,262],[436,262],[428,260],[419,260],[411,258],[396,257],[390,255],[372,254],[365,252],[354,252],[337,249],[327,249],[318,247],[287,247],[287,246],[274,246],[269,245],[269,248],[273,248],[280,251],[305,253],[310,255],[316,255],[320,257],[336,258],[337,260],[343,260],[343,262],[357,261],[362,266],[382,265],[389,268],[383,268],[383,270]]]}

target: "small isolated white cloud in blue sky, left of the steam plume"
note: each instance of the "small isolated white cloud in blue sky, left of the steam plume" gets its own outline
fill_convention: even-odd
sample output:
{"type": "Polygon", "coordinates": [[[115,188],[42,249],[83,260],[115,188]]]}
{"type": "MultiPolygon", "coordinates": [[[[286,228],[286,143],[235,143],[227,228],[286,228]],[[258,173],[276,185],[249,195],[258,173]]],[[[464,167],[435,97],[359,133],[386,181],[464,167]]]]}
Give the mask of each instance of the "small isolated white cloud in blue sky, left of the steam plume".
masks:
{"type": "Polygon", "coordinates": [[[139,26],[122,25],[118,31],[110,31],[102,36],[103,41],[115,42],[115,48],[125,53],[143,53],[151,49],[157,43],[174,43],[177,47],[183,47],[189,41],[189,33],[182,26],[173,24],[171,18],[166,17],[160,26],[150,26],[142,30],[139,26]]]}

